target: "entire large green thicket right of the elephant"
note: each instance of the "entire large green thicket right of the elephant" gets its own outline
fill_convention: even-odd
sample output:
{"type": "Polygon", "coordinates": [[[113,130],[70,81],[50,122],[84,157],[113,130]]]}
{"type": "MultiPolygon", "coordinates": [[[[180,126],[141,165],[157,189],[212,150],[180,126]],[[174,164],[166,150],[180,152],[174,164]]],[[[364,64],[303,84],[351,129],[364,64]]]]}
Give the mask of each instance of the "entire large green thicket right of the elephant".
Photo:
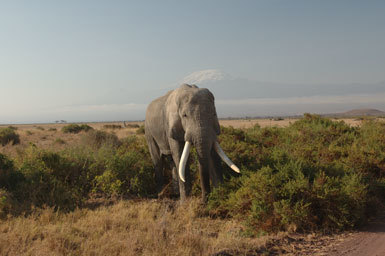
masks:
{"type": "Polygon", "coordinates": [[[384,123],[307,114],[287,128],[225,128],[220,140],[243,175],[211,194],[209,210],[249,234],[351,228],[384,200],[384,123]]]}

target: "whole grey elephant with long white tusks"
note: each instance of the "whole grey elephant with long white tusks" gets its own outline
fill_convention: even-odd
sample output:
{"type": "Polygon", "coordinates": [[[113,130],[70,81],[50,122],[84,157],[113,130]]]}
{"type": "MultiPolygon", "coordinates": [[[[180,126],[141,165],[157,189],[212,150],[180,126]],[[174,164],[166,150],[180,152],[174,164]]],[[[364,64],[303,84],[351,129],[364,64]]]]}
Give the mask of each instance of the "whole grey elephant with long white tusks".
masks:
{"type": "Polygon", "coordinates": [[[203,201],[210,193],[210,179],[213,186],[223,182],[219,157],[239,173],[238,167],[219,146],[219,133],[214,96],[206,88],[183,84],[152,101],[146,111],[145,136],[155,167],[158,193],[163,186],[166,156],[171,155],[175,164],[172,173],[176,190],[179,186],[181,200],[190,194],[191,177],[186,163],[191,145],[198,155],[203,201]]]}

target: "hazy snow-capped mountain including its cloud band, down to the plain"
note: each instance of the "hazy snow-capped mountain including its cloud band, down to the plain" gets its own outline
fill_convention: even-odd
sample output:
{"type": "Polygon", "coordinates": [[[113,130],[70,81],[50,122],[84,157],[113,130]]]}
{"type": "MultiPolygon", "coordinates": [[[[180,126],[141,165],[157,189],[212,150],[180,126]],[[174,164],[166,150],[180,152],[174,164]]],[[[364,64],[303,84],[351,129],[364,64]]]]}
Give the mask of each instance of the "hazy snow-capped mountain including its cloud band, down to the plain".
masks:
{"type": "MultiPolygon", "coordinates": [[[[217,69],[197,71],[175,84],[213,92],[221,117],[292,116],[385,109],[385,81],[372,84],[285,84],[235,78],[217,69]]],[[[172,89],[172,88],[170,88],[172,89]]]]}

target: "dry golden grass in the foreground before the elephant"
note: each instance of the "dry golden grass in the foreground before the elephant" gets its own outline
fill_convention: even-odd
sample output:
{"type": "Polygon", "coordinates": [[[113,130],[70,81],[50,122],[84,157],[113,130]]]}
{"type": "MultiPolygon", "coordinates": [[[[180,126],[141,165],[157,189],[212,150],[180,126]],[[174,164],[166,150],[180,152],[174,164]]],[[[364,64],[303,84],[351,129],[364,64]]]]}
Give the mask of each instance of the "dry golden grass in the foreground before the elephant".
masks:
{"type": "Polygon", "coordinates": [[[119,201],[67,214],[36,210],[0,223],[0,254],[246,255],[263,251],[270,239],[244,238],[240,223],[202,214],[198,199],[119,201]]]}

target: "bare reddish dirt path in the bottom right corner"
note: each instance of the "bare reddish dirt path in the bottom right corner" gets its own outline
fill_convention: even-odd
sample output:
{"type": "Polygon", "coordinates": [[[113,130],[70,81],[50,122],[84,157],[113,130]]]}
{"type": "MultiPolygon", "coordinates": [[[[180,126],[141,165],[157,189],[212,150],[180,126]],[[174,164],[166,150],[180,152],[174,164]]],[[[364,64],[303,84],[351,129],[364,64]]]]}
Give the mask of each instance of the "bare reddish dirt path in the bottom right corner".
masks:
{"type": "Polygon", "coordinates": [[[385,256],[385,212],[362,230],[331,245],[323,255],[385,256]]]}

